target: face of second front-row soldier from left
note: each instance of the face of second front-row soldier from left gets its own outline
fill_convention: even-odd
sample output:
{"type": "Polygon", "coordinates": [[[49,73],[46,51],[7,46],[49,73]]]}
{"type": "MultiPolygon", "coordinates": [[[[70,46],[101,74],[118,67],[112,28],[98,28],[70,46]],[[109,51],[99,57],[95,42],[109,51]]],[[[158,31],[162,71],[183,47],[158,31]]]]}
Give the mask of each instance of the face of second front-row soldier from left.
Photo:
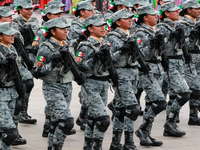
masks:
{"type": "Polygon", "coordinates": [[[59,41],[67,39],[67,29],[66,28],[56,28],[56,31],[51,30],[53,37],[59,41]]]}

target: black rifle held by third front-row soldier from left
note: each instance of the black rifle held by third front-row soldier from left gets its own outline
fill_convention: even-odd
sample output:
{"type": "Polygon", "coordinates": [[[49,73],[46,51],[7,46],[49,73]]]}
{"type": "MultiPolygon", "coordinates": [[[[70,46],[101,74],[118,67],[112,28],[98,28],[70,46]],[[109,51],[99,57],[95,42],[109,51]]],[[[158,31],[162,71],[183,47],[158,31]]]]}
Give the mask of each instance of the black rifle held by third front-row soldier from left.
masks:
{"type": "Polygon", "coordinates": [[[118,76],[112,62],[109,46],[110,45],[107,43],[105,45],[102,45],[100,48],[100,50],[103,51],[105,57],[104,59],[101,60],[103,65],[100,67],[98,73],[102,74],[102,72],[105,72],[105,71],[109,72],[109,78],[112,80],[113,87],[117,88],[118,94],[121,97],[121,94],[119,91],[118,76]]]}

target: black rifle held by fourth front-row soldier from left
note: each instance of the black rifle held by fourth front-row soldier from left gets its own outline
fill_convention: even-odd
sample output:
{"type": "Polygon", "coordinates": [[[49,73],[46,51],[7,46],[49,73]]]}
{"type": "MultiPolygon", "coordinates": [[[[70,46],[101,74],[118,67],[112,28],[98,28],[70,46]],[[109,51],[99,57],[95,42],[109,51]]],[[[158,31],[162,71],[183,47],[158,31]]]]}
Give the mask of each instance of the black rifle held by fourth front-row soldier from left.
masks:
{"type": "Polygon", "coordinates": [[[148,66],[148,64],[144,61],[142,53],[140,51],[140,48],[138,47],[137,41],[135,39],[135,37],[131,37],[130,39],[128,39],[128,43],[131,45],[132,49],[130,51],[130,54],[132,56],[132,62],[136,62],[138,61],[138,63],[140,64],[141,68],[139,69],[141,72],[143,72],[145,75],[148,76],[149,80],[151,81],[151,83],[153,83],[153,81],[151,80],[150,76],[149,76],[149,71],[151,70],[150,67],[148,66]]]}

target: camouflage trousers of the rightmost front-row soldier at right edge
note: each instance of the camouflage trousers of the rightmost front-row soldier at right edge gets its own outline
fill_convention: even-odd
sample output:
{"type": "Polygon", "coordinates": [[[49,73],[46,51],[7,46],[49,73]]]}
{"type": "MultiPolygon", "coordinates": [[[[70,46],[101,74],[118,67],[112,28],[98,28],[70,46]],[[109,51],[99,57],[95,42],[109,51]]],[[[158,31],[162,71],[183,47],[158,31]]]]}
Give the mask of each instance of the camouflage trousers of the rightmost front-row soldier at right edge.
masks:
{"type": "Polygon", "coordinates": [[[197,68],[194,63],[190,63],[190,68],[185,64],[185,80],[192,91],[192,94],[197,92],[198,96],[192,97],[189,100],[190,105],[190,118],[193,120],[198,119],[198,105],[199,105],[199,94],[200,94],[200,80],[197,74],[197,68]]]}

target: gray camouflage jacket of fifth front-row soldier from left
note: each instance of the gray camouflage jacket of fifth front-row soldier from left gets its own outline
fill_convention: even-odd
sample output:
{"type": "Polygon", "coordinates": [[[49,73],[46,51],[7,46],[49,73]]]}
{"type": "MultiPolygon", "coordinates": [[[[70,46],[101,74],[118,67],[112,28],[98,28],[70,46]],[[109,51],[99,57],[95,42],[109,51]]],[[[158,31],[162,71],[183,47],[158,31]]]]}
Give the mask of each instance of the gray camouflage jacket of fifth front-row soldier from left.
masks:
{"type": "MultiPolygon", "coordinates": [[[[140,51],[143,55],[143,58],[146,62],[152,60],[161,60],[161,56],[159,56],[159,52],[157,49],[150,49],[150,40],[155,36],[156,30],[153,30],[150,26],[141,24],[141,26],[136,30],[135,37],[138,40],[140,51]]],[[[161,63],[154,64],[148,63],[151,72],[155,74],[164,74],[163,67],[161,63]]]]}

